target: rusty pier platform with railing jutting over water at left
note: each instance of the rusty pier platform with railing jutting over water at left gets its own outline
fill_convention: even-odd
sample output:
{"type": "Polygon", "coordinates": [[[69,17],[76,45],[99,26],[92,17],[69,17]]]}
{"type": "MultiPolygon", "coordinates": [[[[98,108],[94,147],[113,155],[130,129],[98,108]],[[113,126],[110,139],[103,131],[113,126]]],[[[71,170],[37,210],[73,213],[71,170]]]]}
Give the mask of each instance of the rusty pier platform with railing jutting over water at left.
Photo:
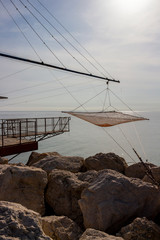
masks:
{"type": "Polygon", "coordinates": [[[0,120],[0,156],[38,149],[38,142],[70,131],[69,117],[0,120]]]}

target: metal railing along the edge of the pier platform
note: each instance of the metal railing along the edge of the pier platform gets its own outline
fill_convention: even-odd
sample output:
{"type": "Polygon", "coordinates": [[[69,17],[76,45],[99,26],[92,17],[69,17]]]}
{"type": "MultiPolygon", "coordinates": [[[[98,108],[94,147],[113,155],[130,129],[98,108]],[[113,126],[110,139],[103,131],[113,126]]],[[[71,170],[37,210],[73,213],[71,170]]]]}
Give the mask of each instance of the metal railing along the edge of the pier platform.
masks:
{"type": "Polygon", "coordinates": [[[36,141],[46,135],[57,135],[69,132],[69,117],[20,118],[0,120],[0,145],[5,145],[6,138],[16,138],[36,141]]]}

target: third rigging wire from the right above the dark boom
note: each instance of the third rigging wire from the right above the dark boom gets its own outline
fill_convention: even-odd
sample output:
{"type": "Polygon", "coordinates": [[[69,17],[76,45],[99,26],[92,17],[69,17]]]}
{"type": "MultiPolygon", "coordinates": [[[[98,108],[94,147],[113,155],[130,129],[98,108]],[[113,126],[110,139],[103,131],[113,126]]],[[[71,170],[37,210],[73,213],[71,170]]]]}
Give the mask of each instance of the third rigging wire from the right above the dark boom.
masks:
{"type": "MultiPolygon", "coordinates": [[[[68,50],[66,47],[63,46],[63,44],[60,43],[60,41],[58,41],[58,39],[53,36],[53,34],[48,30],[47,27],[44,26],[44,24],[33,14],[33,12],[21,1],[19,0],[19,2],[21,2],[21,4],[29,11],[29,13],[38,21],[38,23],[48,32],[48,34],[78,63],[80,64],[81,67],[83,67],[88,73],[90,73],[90,71],[76,58],[74,57],[68,50]]],[[[39,13],[40,14],[40,13],[39,13]]],[[[91,73],[90,73],[91,74],[91,73]]]]}

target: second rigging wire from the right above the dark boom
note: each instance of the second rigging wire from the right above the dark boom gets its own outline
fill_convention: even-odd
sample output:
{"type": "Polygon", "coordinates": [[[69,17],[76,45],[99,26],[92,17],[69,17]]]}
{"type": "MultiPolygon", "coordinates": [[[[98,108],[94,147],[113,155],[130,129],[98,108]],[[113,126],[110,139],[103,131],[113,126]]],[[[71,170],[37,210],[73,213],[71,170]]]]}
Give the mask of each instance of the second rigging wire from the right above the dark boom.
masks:
{"type": "MultiPolygon", "coordinates": [[[[88,63],[90,63],[92,65],[92,67],[94,67],[96,70],[98,70],[99,73],[101,73],[103,76],[105,76],[105,74],[100,71],[86,56],[84,56],[84,54],[82,54],[29,0],[26,0],[33,8],[35,11],[37,11],[40,16],[42,18],[44,18],[46,20],[47,23],[49,23],[50,26],[53,27],[54,30],[56,30],[56,32],[58,32],[58,34],[67,42],[69,43],[70,46],[73,47],[74,50],[76,50],[88,63]]],[[[86,69],[86,68],[85,68],[86,69]]]]}

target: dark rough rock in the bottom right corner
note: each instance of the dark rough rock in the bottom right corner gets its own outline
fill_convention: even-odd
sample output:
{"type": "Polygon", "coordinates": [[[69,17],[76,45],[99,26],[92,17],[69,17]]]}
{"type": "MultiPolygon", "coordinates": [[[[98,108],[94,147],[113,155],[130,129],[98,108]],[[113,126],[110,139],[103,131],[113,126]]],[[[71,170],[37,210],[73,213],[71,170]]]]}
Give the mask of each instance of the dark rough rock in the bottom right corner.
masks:
{"type": "Polygon", "coordinates": [[[125,240],[159,240],[160,227],[146,218],[136,218],[117,234],[125,240]]]}

